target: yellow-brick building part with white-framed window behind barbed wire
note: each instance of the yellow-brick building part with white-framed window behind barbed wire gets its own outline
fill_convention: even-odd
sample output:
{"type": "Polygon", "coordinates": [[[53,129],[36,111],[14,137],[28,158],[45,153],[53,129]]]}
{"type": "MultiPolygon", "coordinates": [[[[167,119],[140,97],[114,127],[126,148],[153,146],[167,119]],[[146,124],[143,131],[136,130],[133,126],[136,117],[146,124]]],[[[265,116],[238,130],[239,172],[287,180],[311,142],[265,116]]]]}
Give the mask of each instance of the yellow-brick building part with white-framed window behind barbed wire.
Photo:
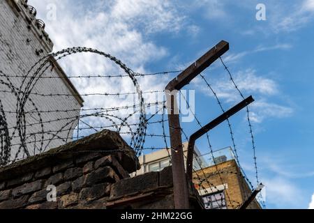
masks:
{"type": "MultiPolygon", "coordinates": [[[[251,195],[248,182],[235,160],[194,171],[193,183],[208,209],[237,209],[251,195]]],[[[256,199],[248,206],[248,209],[260,208],[256,199]]]]}

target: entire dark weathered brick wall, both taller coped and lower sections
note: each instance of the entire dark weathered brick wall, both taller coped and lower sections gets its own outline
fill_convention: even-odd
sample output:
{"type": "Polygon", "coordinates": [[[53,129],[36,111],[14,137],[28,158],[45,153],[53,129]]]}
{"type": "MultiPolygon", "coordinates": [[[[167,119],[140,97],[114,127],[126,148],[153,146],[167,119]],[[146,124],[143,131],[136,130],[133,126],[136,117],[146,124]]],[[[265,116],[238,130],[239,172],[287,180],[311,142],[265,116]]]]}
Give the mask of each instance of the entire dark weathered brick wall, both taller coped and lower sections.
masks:
{"type": "MultiPolygon", "coordinates": [[[[174,208],[172,169],[140,169],[117,132],[104,130],[0,169],[0,209],[174,208]],[[48,185],[57,201],[47,201],[48,185]]],[[[190,191],[190,207],[202,204],[190,191]]]]}

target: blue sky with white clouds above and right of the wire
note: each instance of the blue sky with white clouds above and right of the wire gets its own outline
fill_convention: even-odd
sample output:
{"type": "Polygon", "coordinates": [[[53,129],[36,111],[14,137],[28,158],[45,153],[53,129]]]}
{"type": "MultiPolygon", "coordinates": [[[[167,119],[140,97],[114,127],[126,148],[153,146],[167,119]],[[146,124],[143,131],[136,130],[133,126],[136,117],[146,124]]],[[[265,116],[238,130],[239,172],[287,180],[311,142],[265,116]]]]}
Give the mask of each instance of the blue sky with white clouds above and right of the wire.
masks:
{"type": "MultiPolygon", "coordinates": [[[[137,72],[181,70],[220,40],[229,42],[230,51],[223,59],[244,94],[255,98],[251,118],[260,180],[267,186],[267,208],[310,206],[314,193],[313,0],[29,3],[45,21],[54,50],[94,47],[117,56],[137,72]],[[267,20],[256,20],[257,3],[266,6],[267,20]],[[55,17],[51,17],[54,8],[55,17]]],[[[70,62],[77,62],[77,58],[70,62]]],[[[102,72],[98,61],[89,62],[85,70],[102,72]]],[[[63,66],[77,74],[82,70],[78,64],[63,66]]],[[[204,75],[225,109],[241,100],[220,63],[204,75]]],[[[151,77],[141,81],[141,86],[163,89],[172,77],[151,77]]],[[[202,124],[220,114],[202,79],[195,79],[187,89],[195,90],[195,113],[202,124]]],[[[245,112],[231,121],[239,160],[255,182],[245,112]]],[[[190,134],[197,130],[197,124],[184,123],[183,128],[190,134]]],[[[210,137],[214,149],[231,146],[225,124],[210,137]]],[[[206,139],[198,141],[197,147],[202,153],[208,152],[206,139]]]]}

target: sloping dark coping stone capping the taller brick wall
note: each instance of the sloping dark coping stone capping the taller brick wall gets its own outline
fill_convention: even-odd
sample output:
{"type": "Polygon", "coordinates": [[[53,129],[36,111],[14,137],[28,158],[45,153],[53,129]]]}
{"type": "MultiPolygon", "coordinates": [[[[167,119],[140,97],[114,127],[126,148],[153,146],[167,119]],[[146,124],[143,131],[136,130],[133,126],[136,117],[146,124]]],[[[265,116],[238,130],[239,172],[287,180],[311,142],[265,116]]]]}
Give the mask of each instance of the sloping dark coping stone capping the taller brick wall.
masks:
{"type": "Polygon", "coordinates": [[[140,168],[140,163],[137,157],[135,157],[135,152],[122,139],[120,134],[111,130],[103,130],[96,134],[91,134],[89,137],[52,148],[45,153],[28,157],[27,159],[9,164],[6,167],[1,167],[0,181],[10,180],[31,171],[59,164],[62,160],[73,159],[74,157],[82,156],[82,154],[88,155],[89,152],[109,155],[112,152],[115,153],[115,150],[117,150],[121,166],[128,173],[132,173],[140,168]]]}

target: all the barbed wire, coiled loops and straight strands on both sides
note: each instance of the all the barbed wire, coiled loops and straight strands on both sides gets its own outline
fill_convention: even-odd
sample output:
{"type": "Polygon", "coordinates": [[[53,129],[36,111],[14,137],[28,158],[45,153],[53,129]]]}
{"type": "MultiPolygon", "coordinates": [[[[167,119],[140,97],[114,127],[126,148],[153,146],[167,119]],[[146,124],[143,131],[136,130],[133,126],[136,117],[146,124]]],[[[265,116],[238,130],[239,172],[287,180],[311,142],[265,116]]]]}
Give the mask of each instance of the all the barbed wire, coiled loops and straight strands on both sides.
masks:
{"type": "MultiPolygon", "coordinates": [[[[223,63],[223,60],[220,58],[221,62],[223,63]]],[[[240,95],[242,98],[244,98],[243,94],[239,90],[239,87],[237,84],[235,84],[234,79],[232,78],[232,75],[230,73],[230,70],[227,69],[225,66],[225,63],[223,63],[223,66],[225,70],[227,70],[227,73],[230,76],[230,80],[232,81],[232,84],[234,87],[239,91],[240,95]]],[[[52,67],[53,68],[53,67],[52,67]]],[[[168,72],[156,72],[156,73],[151,73],[151,74],[139,74],[133,72],[133,70],[130,70],[124,63],[119,61],[119,59],[115,58],[114,56],[111,56],[110,54],[105,54],[104,52],[100,52],[97,49],[91,49],[87,47],[72,47],[68,49],[63,49],[59,52],[55,52],[52,54],[48,54],[47,56],[44,56],[41,58],[37,63],[35,63],[31,69],[27,72],[26,75],[6,75],[3,72],[0,71],[0,77],[3,77],[3,79],[0,79],[0,85],[6,86],[8,90],[0,90],[0,93],[11,93],[12,95],[15,96],[17,100],[15,112],[13,111],[6,111],[5,107],[3,107],[2,102],[0,100],[0,146],[1,146],[1,151],[0,151],[0,166],[6,165],[10,162],[15,162],[17,160],[21,160],[24,157],[20,156],[20,153],[24,153],[26,157],[29,157],[38,151],[38,153],[43,153],[47,149],[49,149],[52,146],[53,141],[59,141],[62,142],[63,144],[68,143],[68,141],[71,141],[75,139],[73,135],[73,131],[77,130],[77,137],[76,139],[81,139],[83,137],[86,137],[88,134],[83,135],[80,134],[80,130],[91,130],[98,132],[99,130],[103,130],[106,128],[114,128],[115,131],[119,132],[121,135],[126,135],[130,137],[130,147],[133,147],[135,151],[135,155],[139,156],[142,155],[142,151],[158,151],[158,150],[163,150],[166,149],[168,153],[168,157],[170,158],[170,163],[171,164],[171,156],[169,153],[169,150],[172,148],[168,147],[168,142],[169,140],[169,135],[167,135],[167,131],[165,130],[165,123],[167,123],[167,120],[165,119],[165,101],[160,102],[154,102],[154,103],[144,103],[144,98],[143,94],[147,93],[163,93],[164,91],[146,91],[143,92],[140,89],[140,85],[137,82],[137,77],[146,77],[146,76],[154,76],[154,75],[167,75],[170,73],[177,73],[181,72],[181,70],[178,71],[168,71],[168,72]],[[105,59],[108,59],[112,62],[114,62],[121,70],[124,71],[124,74],[121,75],[78,75],[78,76],[73,76],[73,77],[47,77],[45,76],[45,71],[52,66],[54,66],[53,62],[54,61],[59,61],[66,56],[70,56],[73,54],[80,54],[80,53],[93,53],[97,54],[100,56],[104,56],[105,59]],[[20,84],[19,87],[14,86],[14,84],[11,82],[11,78],[19,78],[22,79],[22,84],[20,84]],[[33,100],[33,96],[40,96],[40,97],[68,97],[68,96],[75,96],[75,94],[68,94],[68,93],[38,93],[34,92],[34,89],[36,84],[38,84],[38,81],[40,79],[57,79],[57,78],[103,78],[103,79],[109,79],[109,78],[122,78],[122,77],[129,77],[133,83],[133,86],[135,87],[135,92],[125,92],[125,93],[86,93],[82,94],[80,96],[89,96],[89,95],[100,95],[100,96],[120,96],[120,95],[137,95],[137,99],[140,101],[139,104],[133,104],[133,105],[126,105],[126,106],[121,106],[121,107],[98,107],[98,108],[87,108],[87,109],[75,109],[75,108],[70,108],[70,109],[38,109],[36,106],[36,103],[33,100]],[[145,109],[147,107],[158,107],[159,105],[162,106],[161,109],[159,109],[156,114],[160,114],[161,120],[157,121],[152,121],[151,119],[156,116],[156,114],[152,114],[150,118],[147,118],[147,114],[145,113],[145,109]],[[120,110],[128,110],[128,109],[133,109],[133,112],[130,112],[126,117],[122,118],[120,116],[110,114],[110,112],[119,112],[120,110]],[[68,112],[84,112],[86,114],[80,114],[80,115],[70,115],[68,112]],[[160,113],[159,113],[160,112],[160,113]],[[130,122],[129,119],[133,117],[135,114],[139,113],[140,117],[136,122],[130,122]],[[53,114],[52,118],[45,120],[43,118],[43,114],[53,114]],[[64,114],[64,116],[61,116],[59,118],[56,118],[54,116],[55,114],[64,114]],[[7,119],[8,116],[15,116],[16,117],[16,125],[15,126],[8,126],[7,119]],[[35,119],[36,121],[28,123],[27,122],[27,117],[30,116],[31,118],[35,119]],[[92,123],[88,123],[84,121],[84,118],[90,118],[90,117],[96,117],[96,118],[103,118],[105,120],[106,125],[103,125],[102,123],[98,123],[98,126],[93,125],[92,123]],[[61,125],[58,126],[57,129],[53,129],[52,127],[54,126],[55,122],[58,121],[63,121],[61,125]],[[109,123],[109,124],[107,124],[109,123]],[[155,132],[148,132],[147,134],[147,126],[151,124],[160,124],[161,125],[161,133],[155,133],[155,132]],[[29,129],[33,127],[38,127],[36,128],[36,132],[28,132],[29,129]],[[49,130],[47,130],[47,127],[49,130]],[[72,134],[71,134],[72,133],[72,134]],[[154,146],[151,148],[149,147],[144,147],[145,143],[145,138],[146,137],[155,137],[155,138],[160,138],[163,140],[163,144],[165,147],[160,147],[156,146],[156,143],[154,141],[154,146]],[[12,141],[13,139],[20,139],[20,143],[13,144],[12,141]],[[13,154],[12,157],[12,148],[13,146],[17,146],[17,152],[13,154]]],[[[214,93],[214,96],[218,102],[218,105],[221,109],[222,112],[225,111],[223,108],[216,92],[214,89],[211,87],[211,85],[207,82],[205,79],[204,75],[201,75],[202,79],[204,80],[204,83],[207,85],[209,90],[214,93]]],[[[180,91],[181,93],[181,91],[180,91]]],[[[182,93],[181,93],[182,94],[182,93]]],[[[186,105],[188,106],[188,109],[190,109],[190,106],[188,105],[188,101],[186,98],[183,96],[184,101],[186,102],[186,105]]],[[[195,120],[197,121],[197,124],[202,126],[199,119],[197,116],[192,112],[193,116],[195,117],[195,120]]],[[[250,127],[250,135],[252,138],[252,144],[253,144],[253,157],[254,157],[254,167],[255,167],[255,175],[256,175],[256,180],[257,183],[259,183],[258,176],[257,176],[257,163],[256,163],[256,155],[255,155],[255,141],[253,138],[253,131],[252,131],[252,126],[249,118],[249,111],[247,108],[247,114],[248,114],[248,123],[250,127]]],[[[253,185],[250,180],[248,180],[248,177],[244,173],[244,170],[241,168],[240,162],[239,162],[239,157],[237,154],[237,146],[234,142],[234,134],[232,131],[232,125],[229,120],[227,120],[227,126],[230,130],[230,136],[232,140],[232,146],[235,154],[235,159],[237,163],[239,164],[240,171],[239,176],[244,178],[242,181],[241,187],[244,187],[243,183],[246,181],[248,183],[248,186],[253,189],[253,185]]],[[[186,133],[184,132],[183,129],[181,129],[182,134],[184,134],[185,139],[188,141],[188,137],[186,136],[186,133]]],[[[207,134],[207,141],[209,144],[210,152],[211,155],[213,155],[213,149],[211,146],[211,143],[209,141],[209,135],[207,134]]],[[[106,151],[109,152],[109,151],[106,151]]],[[[23,155],[23,156],[24,156],[23,155]]],[[[213,157],[214,158],[214,157],[213,157]]],[[[197,160],[198,162],[198,160],[197,160]]],[[[200,166],[200,163],[199,163],[200,166]]],[[[216,166],[216,163],[215,163],[216,166]]],[[[217,166],[216,166],[217,167],[217,166]]],[[[193,167],[193,170],[196,174],[197,179],[197,184],[200,187],[203,187],[203,190],[205,194],[211,194],[213,191],[209,191],[212,188],[215,190],[218,190],[216,186],[209,182],[208,176],[204,173],[204,170],[201,169],[197,170],[197,167],[193,167]],[[197,174],[198,171],[198,174],[197,174]],[[211,187],[204,188],[204,185],[202,183],[207,183],[211,187]]],[[[220,174],[223,174],[223,172],[218,171],[216,169],[216,174],[219,176],[221,183],[223,183],[223,179],[220,176],[220,174]]],[[[225,188],[224,188],[225,189],[225,188]]],[[[241,205],[241,203],[238,203],[237,201],[233,201],[232,197],[230,197],[230,194],[226,192],[225,194],[227,198],[232,201],[231,206],[233,208],[237,208],[237,206],[241,205]]],[[[247,194],[244,194],[245,196],[247,194]]],[[[264,203],[262,203],[264,206],[264,203]]]]}

